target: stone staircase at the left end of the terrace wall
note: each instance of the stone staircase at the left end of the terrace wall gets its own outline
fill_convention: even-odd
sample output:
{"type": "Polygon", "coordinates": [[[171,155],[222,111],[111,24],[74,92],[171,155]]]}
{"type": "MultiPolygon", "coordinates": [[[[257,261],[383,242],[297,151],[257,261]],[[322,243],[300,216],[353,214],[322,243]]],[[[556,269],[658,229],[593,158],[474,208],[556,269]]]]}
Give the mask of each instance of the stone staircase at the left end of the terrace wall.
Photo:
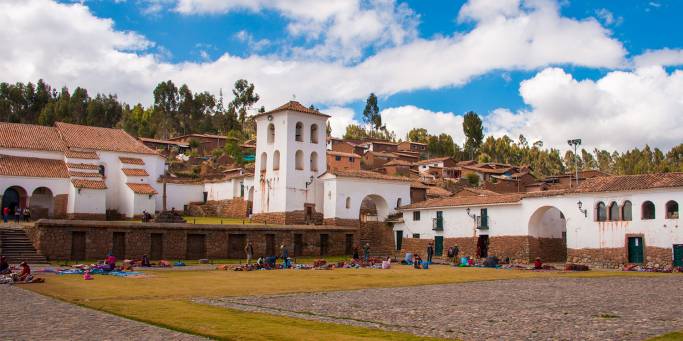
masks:
{"type": "Polygon", "coordinates": [[[47,264],[45,256],[36,251],[20,226],[0,227],[0,254],[7,257],[10,263],[26,261],[29,264],[47,264]]]}

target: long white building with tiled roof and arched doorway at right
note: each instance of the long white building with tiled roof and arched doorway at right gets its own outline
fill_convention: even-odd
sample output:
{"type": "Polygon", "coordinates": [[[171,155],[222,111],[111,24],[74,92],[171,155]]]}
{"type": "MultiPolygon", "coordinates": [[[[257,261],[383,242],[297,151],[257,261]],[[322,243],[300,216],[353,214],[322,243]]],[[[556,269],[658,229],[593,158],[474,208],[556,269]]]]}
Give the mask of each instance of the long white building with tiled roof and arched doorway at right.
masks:
{"type": "MultiPolygon", "coordinates": [[[[475,191],[401,208],[403,252],[497,256],[529,263],[683,266],[683,173],[601,176],[578,187],[532,193],[475,191]],[[412,236],[412,238],[410,238],[412,236]]],[[[399,233],[400,231],[400,233],[399,233]]]]}

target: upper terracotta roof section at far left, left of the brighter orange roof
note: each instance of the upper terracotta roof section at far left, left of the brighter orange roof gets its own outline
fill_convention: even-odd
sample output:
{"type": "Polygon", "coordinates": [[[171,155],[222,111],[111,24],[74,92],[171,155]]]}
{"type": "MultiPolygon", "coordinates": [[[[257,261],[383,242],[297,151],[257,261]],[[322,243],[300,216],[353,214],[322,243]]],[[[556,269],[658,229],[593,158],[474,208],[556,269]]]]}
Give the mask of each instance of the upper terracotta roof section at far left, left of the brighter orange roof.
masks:
{"type": "Polygon", "coordinates": [[[54,127],[0,122],[0,147],[64,151],[66,145],[54,127]]]}

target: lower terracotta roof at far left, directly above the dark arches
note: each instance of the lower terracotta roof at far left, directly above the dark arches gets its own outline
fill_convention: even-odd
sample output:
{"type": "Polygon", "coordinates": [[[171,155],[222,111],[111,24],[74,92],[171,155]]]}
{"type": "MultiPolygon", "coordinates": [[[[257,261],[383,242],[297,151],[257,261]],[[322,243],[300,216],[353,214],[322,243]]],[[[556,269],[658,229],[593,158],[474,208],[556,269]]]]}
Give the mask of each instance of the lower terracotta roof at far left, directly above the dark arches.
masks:
{"type": "Polygon", "coordinates": [[[68,178],[62,160],[0,155],[0,175],[37,178],[68,178]]]}

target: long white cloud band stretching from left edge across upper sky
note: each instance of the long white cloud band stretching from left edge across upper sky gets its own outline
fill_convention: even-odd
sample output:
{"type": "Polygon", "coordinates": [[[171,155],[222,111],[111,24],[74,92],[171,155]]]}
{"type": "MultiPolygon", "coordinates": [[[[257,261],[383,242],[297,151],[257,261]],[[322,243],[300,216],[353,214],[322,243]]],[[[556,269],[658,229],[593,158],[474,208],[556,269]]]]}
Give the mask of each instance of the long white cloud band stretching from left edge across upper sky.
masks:
{"type": "MultiPolygon", "coordinates": [[[[204,6],[217,3],[202,2],[204,6]]],[[[264,2],[230,3],[248,8],[264,2]]],[[[342,8],[357,2],[291,0],[289,10],[306,13],[312,21],[325,21],[321,18],[343,12],[329,8],[328,3],[342,8]]],[[[388,0],[373,3],[395,5],[388,0]]],[[[481,3],[471,1],[468,5],[474,8],[481,3]]],[[[370,92],[387,96],[462,85],[492,70],[533,70],[549,64],[624,64],[621,43],[595,19],[560,17],[554,3],[547,0],[526,1],[517,9],[498,1],[488,6],[488,10],[481,6],[476,11],[463,9],[461,17],[476,23],[469,32],[432,40],[415,39],[381,49],[353,65],[278,56],[240,58],[227,53],[213,61],[173,64],[159,60],[150,51],[152,42],[116,30],[111,20],[95,17],[84,5],[9,0],[0,2],[0,26],[4,28],[0,44],[7,47],[0,50],[0,74],[3,81],[44,78],[57,87],[80,85],[91,92],[117,93],[127,102],[144,104],[151,102],[152,89],[160,81],[171,79],[187,83],[195,91],[218,93],[220,88],[229,89],[236,79],[246,78],[255,83],[263,99],[261,104],[273,108],[292,94],[305,104],[343,106],[370,92]],[[496,7],[497,3],[502,7],[496,7]],[[491,16],[485,11],[502,14],[489,20],[491,16]]],[[[342,37],[345,33],[335,34],[342,37]]]]}

